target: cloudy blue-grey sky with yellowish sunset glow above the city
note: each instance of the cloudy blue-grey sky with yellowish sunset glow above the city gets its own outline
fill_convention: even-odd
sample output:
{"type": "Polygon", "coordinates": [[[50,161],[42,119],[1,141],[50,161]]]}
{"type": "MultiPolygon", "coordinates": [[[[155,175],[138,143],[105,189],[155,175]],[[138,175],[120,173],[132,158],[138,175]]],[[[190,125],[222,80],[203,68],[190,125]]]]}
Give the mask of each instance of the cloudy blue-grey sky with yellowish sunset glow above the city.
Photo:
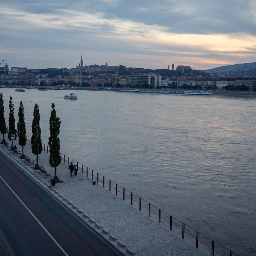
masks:
{"type": "Polygon", "coordinates": [[[0,60],[209,69],[256,61],[255,0],[0,0],[0,60]]]}

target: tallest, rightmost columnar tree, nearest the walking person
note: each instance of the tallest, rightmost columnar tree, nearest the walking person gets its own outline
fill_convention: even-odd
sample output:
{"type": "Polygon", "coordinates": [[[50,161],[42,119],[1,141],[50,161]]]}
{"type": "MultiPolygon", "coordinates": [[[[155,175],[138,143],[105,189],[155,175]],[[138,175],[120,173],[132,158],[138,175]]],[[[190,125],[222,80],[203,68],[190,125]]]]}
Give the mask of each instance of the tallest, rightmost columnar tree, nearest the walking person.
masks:
{"type": "Polygon", "coordinates": [[[59,182],[59,178],[57,176],[56,170],[57,166],[61,162],[60,158],[60,140],[59,140],[59,133],[60,133],[60,118],[56,116],[56,110],[54,103],[52,103],[52,112],[50,115],[50,137],[49,137],[49,148],[50,148],[50,158],[49,164],[50,166],[54,167],[54,179],[55,182],[59,182]]]}

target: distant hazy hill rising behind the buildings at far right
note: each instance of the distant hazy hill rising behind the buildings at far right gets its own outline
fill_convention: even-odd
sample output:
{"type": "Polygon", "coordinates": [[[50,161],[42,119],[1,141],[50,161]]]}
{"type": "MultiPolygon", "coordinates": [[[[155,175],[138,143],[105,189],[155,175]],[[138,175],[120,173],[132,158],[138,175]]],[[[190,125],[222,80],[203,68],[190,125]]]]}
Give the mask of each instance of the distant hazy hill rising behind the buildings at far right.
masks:
{"type": "Polygon", "coordinates": [[[256,76],[256,62],[241,63],[227,66],[220,66],[218,68],[203,70],[207,73],[215,74],[234,74],[239,76],[256,76]]]}

